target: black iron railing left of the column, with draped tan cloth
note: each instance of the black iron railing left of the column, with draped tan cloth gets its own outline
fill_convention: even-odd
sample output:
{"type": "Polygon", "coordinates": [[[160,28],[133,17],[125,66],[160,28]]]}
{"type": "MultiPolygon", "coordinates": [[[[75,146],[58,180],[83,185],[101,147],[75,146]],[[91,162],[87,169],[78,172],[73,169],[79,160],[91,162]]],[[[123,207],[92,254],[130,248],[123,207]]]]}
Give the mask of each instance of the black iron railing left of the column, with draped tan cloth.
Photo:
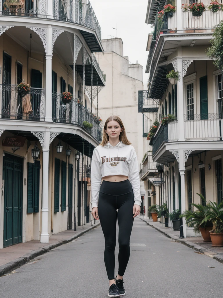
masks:
{"type": "Polygon", "coordinates": [[[0,84],[1,118],[19,120],[44,120],[45,89],[30,88],[29,111],[24,108],[25,98],[18,92],[17,85],[0,84]],[[29,113],[25,113],[28,111],[29,113]]]}

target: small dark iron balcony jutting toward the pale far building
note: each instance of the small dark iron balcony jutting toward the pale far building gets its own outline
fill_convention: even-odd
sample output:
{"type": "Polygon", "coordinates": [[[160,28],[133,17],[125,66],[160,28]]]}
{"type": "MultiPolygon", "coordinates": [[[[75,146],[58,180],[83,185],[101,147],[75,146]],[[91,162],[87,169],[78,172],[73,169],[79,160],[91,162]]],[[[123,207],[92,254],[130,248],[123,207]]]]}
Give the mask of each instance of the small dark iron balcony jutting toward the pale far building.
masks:
{"type": "Polygon", "coordinates": [[[138,91],[138,112],[156,113],[159,109],[159,100],[148,98],[148,91],[138,91]]]}

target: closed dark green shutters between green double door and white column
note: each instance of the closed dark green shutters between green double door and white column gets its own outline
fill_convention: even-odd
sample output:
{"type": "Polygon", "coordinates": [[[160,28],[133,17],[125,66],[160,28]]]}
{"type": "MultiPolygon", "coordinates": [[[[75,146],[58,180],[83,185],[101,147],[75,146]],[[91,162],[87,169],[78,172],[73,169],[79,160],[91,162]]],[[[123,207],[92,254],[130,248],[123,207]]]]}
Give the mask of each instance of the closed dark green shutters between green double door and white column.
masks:
{"type": "Polygon", "coordinates": [[[39,212],[40,162],[27,163],[27,213],[39,212]]]}

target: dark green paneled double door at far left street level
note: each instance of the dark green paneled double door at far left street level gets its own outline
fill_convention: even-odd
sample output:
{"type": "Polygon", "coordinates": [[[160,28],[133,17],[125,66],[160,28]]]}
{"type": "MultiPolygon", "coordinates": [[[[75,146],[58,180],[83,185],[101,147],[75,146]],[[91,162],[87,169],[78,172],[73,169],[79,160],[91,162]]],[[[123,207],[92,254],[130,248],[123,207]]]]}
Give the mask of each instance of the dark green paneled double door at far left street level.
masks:
{"type": "Polygon", "coordinates": [[[23,159],[3,157],[4,179],[4,247],[22,242],[23,159]]]}

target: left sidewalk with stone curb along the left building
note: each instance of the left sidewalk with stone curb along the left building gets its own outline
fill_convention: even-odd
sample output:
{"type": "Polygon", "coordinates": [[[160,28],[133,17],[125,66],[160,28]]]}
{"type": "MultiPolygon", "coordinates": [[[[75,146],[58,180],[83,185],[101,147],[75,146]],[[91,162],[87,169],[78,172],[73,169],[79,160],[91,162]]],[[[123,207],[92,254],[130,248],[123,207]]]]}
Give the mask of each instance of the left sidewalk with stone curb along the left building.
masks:
{"type": "Polygon", "coordinates": [[[76,231],[67,230],[53,234],[49,238],[49,243],[40,243],[39,240],[32,240],[0,249],[0,276],[9,273],[15,268],[24,265],[35,257],[45,254],[57,246],[71,242],[100,225],[100,222],[94,224],[92,221],[92,223],[93,226],[91,226],[91,222],[87,223],[85,226],[77,226],[76,231]]]}

